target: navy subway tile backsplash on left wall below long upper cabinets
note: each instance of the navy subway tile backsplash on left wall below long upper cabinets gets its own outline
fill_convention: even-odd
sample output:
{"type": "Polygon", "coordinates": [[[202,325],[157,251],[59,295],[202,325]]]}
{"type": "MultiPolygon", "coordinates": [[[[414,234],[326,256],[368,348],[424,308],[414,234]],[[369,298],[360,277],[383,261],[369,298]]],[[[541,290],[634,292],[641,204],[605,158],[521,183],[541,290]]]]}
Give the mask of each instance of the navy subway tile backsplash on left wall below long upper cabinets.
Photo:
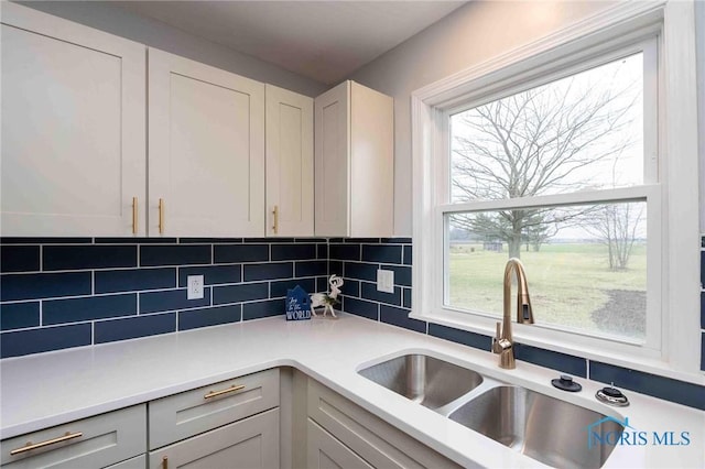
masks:
{"type": "Polygon", "coordinates": [[[328,287],[325,239],[2,238],[0,248],[2,358],[283,315],[286,288],[328,287]],[[188,275],[204,275],[203,298],[187,298],[188,275]]]}

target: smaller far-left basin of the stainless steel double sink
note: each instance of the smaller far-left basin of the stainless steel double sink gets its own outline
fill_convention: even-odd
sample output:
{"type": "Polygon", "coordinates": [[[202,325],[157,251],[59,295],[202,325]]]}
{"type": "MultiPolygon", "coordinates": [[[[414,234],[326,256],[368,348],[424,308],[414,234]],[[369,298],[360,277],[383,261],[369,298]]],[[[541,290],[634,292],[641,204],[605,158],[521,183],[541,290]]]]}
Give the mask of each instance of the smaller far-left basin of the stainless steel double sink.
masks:
{"type": "Polygon", "coordinates": [[[425,355],[405,355],[359,373],[429,408],[438,408],[480,385],[473,370],[425,355]]]}

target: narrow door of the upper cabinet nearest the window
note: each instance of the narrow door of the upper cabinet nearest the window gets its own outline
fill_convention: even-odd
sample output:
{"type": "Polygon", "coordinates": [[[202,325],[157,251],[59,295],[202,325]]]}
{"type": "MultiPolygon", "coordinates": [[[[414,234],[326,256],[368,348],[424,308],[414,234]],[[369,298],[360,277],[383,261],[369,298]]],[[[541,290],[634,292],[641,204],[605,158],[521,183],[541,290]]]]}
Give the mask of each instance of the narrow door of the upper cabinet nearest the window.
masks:
{"type": "Polygon", "coordinates": [[[350,81],[315,99],[315,232],[349,236],[350,81]]]}

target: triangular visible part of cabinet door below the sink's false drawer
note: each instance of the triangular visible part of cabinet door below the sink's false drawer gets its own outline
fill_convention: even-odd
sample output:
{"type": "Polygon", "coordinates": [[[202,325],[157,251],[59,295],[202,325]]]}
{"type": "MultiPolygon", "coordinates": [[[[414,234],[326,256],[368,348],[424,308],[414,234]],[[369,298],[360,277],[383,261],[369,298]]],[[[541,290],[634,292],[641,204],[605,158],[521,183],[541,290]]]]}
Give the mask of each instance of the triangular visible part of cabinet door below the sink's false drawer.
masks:
{"type": "Polygon", "coordinates": [[[308,418],[307,458],[311,469],[369,469],[365,459],[308,418]]]}

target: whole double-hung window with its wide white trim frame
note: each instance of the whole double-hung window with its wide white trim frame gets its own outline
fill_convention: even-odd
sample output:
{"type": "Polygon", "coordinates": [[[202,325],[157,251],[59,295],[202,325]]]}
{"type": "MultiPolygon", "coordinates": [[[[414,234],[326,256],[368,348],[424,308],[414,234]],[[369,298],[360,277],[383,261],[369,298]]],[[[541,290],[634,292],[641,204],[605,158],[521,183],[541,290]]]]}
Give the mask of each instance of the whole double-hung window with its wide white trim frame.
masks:
{"type": "Polygon", "coordinates": [[[698,372],[691,10],[619,4],[412,95],[413,317],[494,336],[518,257],[518,341],[698,372]]]}

